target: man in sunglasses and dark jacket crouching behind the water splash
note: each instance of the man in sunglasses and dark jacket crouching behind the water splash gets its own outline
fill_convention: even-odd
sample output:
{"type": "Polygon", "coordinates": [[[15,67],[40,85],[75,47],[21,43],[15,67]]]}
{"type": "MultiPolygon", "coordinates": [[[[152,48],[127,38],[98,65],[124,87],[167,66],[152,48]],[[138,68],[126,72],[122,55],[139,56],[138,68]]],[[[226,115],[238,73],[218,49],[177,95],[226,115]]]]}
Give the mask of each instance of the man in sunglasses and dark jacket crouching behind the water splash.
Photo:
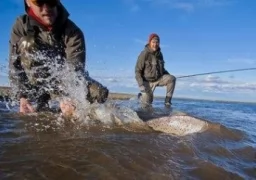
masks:
{"type": "Polygon", "coordinates": [[[105,102],[108,89],[86,77],[83,32],[69,19],[60,0],[24,0],[24,5],[26,14],[12,27],[9,60],[10,82],[14,97],[20,100],[20,112],[41,111],[52,94],[67,95],[65,89],[59,89],[60,79],[47,79],[52,66],[57,66],[56,70],[69,65],[78,76],[90,79],[87,100],[105,102]],[[35,57],[39,52],[44,58],[35,57]],[[37,102],[36,109],[31,100],[37,102]]]}

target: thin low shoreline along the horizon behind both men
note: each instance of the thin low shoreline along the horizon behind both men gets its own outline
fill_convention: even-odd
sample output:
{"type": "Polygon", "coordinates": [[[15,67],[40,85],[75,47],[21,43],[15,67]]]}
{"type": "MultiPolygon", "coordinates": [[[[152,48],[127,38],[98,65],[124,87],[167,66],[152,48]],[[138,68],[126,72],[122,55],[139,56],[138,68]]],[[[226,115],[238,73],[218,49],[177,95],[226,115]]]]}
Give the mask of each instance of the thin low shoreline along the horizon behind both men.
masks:
{"type": "MultiPolygon", "coordinates": [[[[10,87],[0,86],[0,100],[3,97],[9,97],[10,87]]],[[[111,100],[128,100],[131,98],[136,98],[137,94],[130,93],[118,93],[118,92],[110,92],[109,99],[111,100]]],[[[156,98],[164,98],[164,96],[156,96],[156,98]]],[[[187,98],[187,97],[174,97],[173,99],[177,100],[194,100],[194,101],[212,101],[212,102],[232,102],[232,103],[249,103],[256,104],[256,102],[243,102],[243,101],[228,101],[228,100],[212,100],[212,99],[198,99],[198,98],[187,98]]]]}

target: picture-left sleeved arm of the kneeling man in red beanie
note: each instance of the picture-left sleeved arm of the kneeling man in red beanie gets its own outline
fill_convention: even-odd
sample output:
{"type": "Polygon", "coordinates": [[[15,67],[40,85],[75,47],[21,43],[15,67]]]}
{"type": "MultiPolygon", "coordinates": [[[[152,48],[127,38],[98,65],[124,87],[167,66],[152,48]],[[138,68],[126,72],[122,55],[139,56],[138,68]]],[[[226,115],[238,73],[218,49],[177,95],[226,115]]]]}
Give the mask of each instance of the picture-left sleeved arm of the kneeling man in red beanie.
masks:
{"type": "Polygon", "coordinates": [[[137,63],[136,63],[136,67],[135,67],[135,78],[137,80],[137,83],[140,86],[143,86],[143,70],[144,70],[144,66],[145,66],[145,58],[146,58],[146,52],[142,51],[138,57],[137,63]]]}

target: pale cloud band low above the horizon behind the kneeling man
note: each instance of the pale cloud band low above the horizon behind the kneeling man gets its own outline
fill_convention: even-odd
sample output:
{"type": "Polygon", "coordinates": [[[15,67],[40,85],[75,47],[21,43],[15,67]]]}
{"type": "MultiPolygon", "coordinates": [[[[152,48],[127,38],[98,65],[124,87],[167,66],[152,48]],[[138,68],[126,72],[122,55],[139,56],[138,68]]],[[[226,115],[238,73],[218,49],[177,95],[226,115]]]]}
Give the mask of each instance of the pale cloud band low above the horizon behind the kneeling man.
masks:
{"type": "MultiPolygon", "coordinates": [[[[103,73],[104,74],[104,73],[103,73]]],[[[91,74],[92,78],[101,82],[111,90],[118,88],[138,90],[138,84],[135,80],[133,71],[117,70],[112,74],[99,75],[99,73],[91,74]]],[[[177,76],[178,77],[178,76],[177,76]]],[[[157,88],[165,90],[165,88],[157,88]]],[[[256,91],[256,82],[237,81],[234,77],[222,78],[220,76],[208,75],[203,77],[190,77],[177,79],[175,92],[196,92],[198,94],[207,92],[219,95],[228,94],[244,94],[253,95],[256,91]]],[[[189,93],[188,93],[189,94],[189,93]]]]}

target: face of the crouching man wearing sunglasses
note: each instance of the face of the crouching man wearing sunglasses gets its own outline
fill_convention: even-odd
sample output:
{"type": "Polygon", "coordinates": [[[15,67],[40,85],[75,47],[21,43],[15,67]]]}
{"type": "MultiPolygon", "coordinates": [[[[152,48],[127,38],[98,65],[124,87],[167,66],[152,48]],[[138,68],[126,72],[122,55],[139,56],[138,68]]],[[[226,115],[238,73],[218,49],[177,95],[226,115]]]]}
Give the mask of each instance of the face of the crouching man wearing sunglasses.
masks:
{"type": "Polygon", "coordinates": [[[53,25],[55,22],[58,2],[58,0],[26,0],[27,5],[46,25],[53,25]]]}

